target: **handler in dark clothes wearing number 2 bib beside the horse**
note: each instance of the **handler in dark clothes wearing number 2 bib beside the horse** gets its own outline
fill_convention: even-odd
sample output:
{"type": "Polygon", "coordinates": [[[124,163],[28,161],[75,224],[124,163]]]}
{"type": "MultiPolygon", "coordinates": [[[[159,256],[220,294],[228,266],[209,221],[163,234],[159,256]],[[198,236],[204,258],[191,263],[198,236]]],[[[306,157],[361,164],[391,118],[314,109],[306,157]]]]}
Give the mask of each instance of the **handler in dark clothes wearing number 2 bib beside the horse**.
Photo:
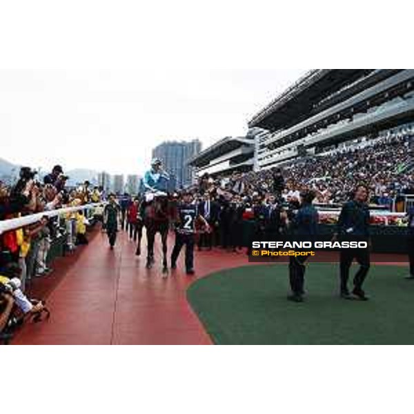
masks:
{"type": "Polygon", "coordinates": [[[195,221],[199,219],[203,222],[206,231],[210,231],[210,226],[206,219],[199,214],[197,204],[193,204],[193,195],[189,192],[184,193],[183,202],[177,206],[177,224],[175,226],[175,245],[171,253],[171,268],[177,268],[177,258],[181,248],[186,245],[186,273],[194,275],[194,243],[195,243],[195,221]]]}

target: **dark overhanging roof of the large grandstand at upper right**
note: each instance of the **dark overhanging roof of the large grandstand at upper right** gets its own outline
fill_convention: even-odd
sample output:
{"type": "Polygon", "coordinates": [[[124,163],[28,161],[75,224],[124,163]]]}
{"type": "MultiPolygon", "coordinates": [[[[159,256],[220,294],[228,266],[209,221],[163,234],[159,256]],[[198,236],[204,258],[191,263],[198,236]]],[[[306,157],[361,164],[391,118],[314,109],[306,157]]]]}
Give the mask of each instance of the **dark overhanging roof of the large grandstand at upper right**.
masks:
{"type": "Polygon", "coordinates": [[[373,69],[310,70],[258,112],[248,126],[267,130],[286,128],[313,112],[317,113],[315,103],[370,72],[373,72],[373,69]]]}

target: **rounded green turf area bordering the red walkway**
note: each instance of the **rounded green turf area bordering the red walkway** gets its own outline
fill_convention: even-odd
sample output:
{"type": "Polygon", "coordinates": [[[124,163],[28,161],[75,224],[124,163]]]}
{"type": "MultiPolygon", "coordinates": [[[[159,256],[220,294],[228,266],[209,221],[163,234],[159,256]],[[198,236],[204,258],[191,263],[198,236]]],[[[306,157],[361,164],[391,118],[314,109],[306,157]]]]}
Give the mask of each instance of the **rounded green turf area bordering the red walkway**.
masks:
{"type": "Polygon", "coordinates": [[[371,266],[364,286],[371,300],[358,302],[337,296],[337,265],[310,264],[302,304],[286,300],[287,270],[223,270],[192,284],[188,300],[216,344],[414,344],[407,268],[371,266]]]}

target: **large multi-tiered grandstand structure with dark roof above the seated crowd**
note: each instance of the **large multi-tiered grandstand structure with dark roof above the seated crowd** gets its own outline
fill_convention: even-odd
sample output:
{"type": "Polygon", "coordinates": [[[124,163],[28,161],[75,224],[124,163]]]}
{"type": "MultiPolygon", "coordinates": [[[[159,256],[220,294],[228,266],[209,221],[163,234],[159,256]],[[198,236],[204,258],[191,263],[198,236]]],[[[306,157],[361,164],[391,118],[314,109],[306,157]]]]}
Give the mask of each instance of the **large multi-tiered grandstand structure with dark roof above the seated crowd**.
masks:
{"type": "Polygon", "coordinates": [[[286,161],[376,138],[414,119],[414,70],[318,69],[248,123],[259,130],[255,165],[266,169],[286,161]]]}

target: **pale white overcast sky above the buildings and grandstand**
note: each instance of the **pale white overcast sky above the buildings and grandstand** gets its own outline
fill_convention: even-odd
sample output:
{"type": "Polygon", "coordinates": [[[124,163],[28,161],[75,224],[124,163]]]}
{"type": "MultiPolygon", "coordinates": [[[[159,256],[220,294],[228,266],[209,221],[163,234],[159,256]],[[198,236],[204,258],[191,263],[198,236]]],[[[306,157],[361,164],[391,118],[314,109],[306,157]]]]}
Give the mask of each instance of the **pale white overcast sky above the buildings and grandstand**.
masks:
{"type": "Polygon", "coordinates": [[[142,174],[161,141],[198,138],[206,148],[245,134],[301,72],[0,70],[1,157],[142,174]]]}

